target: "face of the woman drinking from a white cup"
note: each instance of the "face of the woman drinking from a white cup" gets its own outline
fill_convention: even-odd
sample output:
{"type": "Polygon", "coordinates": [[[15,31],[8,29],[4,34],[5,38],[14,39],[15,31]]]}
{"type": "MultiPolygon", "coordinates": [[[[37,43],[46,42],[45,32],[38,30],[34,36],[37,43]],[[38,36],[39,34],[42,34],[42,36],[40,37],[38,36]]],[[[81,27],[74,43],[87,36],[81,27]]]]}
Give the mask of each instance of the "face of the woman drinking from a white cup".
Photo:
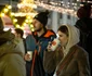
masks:
{"type": "Polygon", "coordinates": [[[66,34],[62,33],[61,30],[57,31],[57,35],[58,35],[58,39],[61,41],[62,47],[65,47],[68,41],[68,36],[66,34]]]}

